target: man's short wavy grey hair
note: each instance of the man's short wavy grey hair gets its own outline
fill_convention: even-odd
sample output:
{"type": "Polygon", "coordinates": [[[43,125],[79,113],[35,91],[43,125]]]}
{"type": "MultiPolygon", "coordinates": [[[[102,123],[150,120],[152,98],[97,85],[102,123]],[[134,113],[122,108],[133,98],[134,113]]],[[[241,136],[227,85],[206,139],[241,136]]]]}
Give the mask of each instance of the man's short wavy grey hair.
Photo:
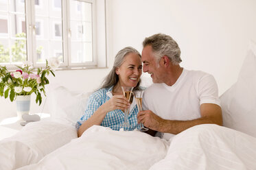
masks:
{"type": "Polygon", "coordinates": [[[181,49],[177,42],[171,36],[165,34],[154,34],[143,41],[143,47],[152,46],[152,52],[156,58],[156,63],[159,64],[163,56],[168,56],[173,64],[178,65],[181,60],[181,49]]]}

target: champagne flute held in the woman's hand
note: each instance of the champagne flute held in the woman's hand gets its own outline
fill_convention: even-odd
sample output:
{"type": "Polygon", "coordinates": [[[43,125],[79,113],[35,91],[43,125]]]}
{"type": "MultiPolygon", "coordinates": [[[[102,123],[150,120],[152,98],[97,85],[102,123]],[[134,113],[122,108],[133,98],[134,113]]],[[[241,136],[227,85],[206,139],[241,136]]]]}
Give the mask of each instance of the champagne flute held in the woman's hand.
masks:
{"type": "MultiPolygon", "coordinates": [[[[133,87],[126,87],[126,86],[121,86],[121,90],[123,90],[124,93],[124,97],[126,97],[126,99],[128,99],[128,101],[131,103],[132,100],[132,89],[133,87]]],[[[128,115],[130,112],[130,108],[124,110],[124,123],[122,125],[122,127],[124,127],[124,131],[127,131],[130,129],[130,123],[128,122],[128,115]]]]}

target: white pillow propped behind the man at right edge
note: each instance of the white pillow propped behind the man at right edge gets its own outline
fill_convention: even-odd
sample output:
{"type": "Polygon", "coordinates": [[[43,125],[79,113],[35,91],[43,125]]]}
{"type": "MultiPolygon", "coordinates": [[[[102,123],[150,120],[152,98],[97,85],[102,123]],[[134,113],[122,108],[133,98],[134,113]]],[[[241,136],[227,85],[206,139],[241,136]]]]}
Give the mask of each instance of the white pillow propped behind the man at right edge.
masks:
{"type": "Polygon", "coordinates": [[[223,125],[256,137],[256,45],[251,42],[237,82],[221,97],[223,125]]]}

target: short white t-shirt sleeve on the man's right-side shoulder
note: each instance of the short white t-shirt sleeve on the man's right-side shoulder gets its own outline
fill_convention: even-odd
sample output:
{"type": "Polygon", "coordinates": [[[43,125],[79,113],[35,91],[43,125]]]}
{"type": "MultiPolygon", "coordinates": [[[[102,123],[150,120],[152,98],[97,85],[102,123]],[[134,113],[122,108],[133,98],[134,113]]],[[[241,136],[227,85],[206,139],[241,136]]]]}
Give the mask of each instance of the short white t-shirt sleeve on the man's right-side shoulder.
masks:
{"type": "Polygon", "coordinates": [[[204,75],[198,81],[198,96],[201,104],[217,104],[220,106],[218,97],[218,85],[212,75],[204,75]]]}

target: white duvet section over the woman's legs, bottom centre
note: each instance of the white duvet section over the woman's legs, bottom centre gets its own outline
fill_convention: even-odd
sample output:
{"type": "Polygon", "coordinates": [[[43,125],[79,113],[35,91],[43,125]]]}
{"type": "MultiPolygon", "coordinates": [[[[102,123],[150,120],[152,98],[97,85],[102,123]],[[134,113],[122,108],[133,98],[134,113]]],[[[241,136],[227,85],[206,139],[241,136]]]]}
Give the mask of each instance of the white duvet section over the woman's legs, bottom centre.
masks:
{"type": "Polygon", "coordinates": [[[94,125],[37,164],[21,169],[143,170],[163,159],[169,145],[165,139],[142,132],[120,132],[94,125]]]}

